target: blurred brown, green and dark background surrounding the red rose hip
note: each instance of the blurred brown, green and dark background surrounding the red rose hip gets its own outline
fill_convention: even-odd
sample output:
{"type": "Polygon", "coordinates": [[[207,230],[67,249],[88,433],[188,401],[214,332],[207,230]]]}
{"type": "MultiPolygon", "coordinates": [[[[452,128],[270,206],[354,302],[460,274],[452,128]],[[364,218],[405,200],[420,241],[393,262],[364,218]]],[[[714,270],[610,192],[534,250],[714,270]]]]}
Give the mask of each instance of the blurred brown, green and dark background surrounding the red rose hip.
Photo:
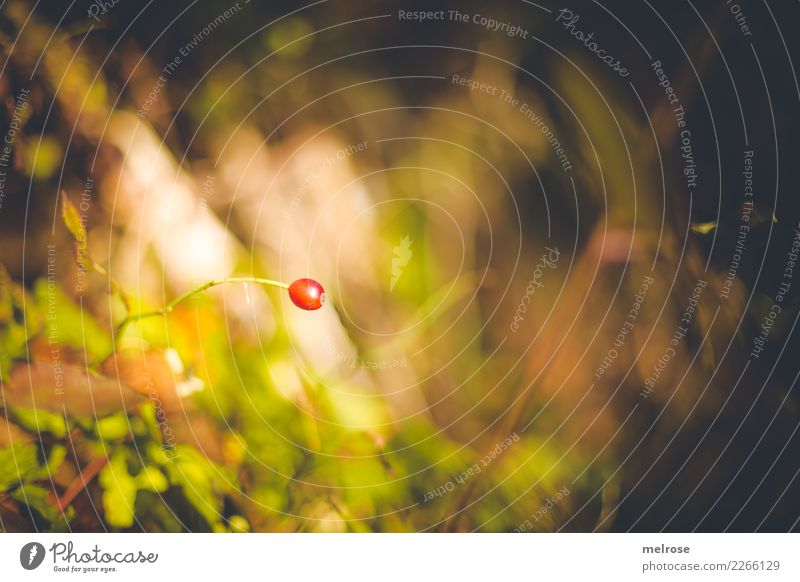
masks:
{"type": "Polygon", "coordinates": [[[737,6],[4,2],[0,529],[797,530],[800,15],[737,6]],[[226,277],[327,302],[119,327],[226,277]]]}

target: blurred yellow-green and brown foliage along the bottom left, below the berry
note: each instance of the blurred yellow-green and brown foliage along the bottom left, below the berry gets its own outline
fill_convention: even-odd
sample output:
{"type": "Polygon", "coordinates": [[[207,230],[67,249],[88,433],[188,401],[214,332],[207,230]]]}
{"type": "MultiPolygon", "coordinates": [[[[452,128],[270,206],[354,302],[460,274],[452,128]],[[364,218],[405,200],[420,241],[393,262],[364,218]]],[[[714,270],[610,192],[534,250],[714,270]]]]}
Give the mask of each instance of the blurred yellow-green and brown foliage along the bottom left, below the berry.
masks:
{"type": "MultiPolygon", "coordinates": [[[[22,293],[6,285],[9,297],[22,293]]],[[[63,352],[85,348],[94,361],[109,356],[110,336],[86,311],[60,290],[48,294],[44,280],[35,287],[41,299],[28,299],[25,319],[44,320],[48,298],[57,301],[63,352]]],[[[547,498],[567,479],[564,451],[525,437],[496,457],[492,479],[481,478],[477,490],[470,483],[470,495],[463,495],[466,488],[453,492],[454,479],[479,466],[481,455],[421,420],[388,441],[338,426],[337,419],[353,414],[368,421],[371,412],[354,412],[359,404],[353,396],[298,375],[285,338],[231,346],[211,301],[199,299],[191,309],[205,314],[198,322],[202,345],[181,333],[187,310],[179,309],[162,331],[171,338],[167,357],[163,350],[145,358],[140,352],[127,363],[111,356],[112,366],[88,369],[52,360],[12,365],[3,387],[4,422],[15,437],[0,448],[6,527],[15,529],[14,520],[21,519],[43,531],[414,530],[428,526],[431,515],[444,519],[455,499],[471,503],[485,490],[490,501],[469,523],[480,520],[502,531],[516,526],[507,507],[530,496],[529,483],[538,483],[547,498]],[[170,378],[177,371],[165,362],[177,353],[196,354],[202,368],[170,378]],[[136,360],[139,368],[132,371],[136,360]],[[104,375],[114,369],[115,379],[104,375]],[[137,377],[146,381],[136,388],[120,383],[137,377]],[[214,390],[201,390],[191,401],[170,396],[188,378],[214,390]],[[134,398],[137,391],[146,398],[134,398]],[[298,399],[314,417],[297,408],[298,399]],[[426,495],[439,487],[450,496],[426,495]]],[[[36,354],[46,338],[31,332],[27,339],[14,351],[5,349],[9,362],[24,359],[26,349],[34,360],[41,357],[36,354]]],[[[581,461],[572,456],[572,463],[581,461]]],[[[588,474],[587,484],[600,477],[588,474]]]]}

